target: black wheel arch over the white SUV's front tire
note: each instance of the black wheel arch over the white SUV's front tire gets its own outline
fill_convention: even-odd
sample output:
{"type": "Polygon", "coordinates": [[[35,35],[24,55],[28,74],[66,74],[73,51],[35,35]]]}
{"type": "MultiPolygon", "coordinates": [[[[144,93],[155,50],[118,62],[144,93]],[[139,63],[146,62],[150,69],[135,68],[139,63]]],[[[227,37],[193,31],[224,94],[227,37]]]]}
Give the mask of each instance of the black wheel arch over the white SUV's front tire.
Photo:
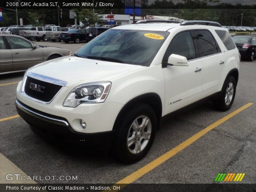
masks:
{"type": "Polygon", "coordinates": [[[134,104],[138,103],[144,103],[148,104],[152,109],[154,110],[156,114],[156,119],[157,119],[157,129],[159,128],[160,124],[160,118],[162,117],[162,101],[161,98],[158,94],[156,93],[146,93],[142,94],[140,96],[136,96],[135,98],[131,99],[128,101],[120,110],[118,113],[116,120],[114,122],[114,127],[113,130],[116,129],[117,125],[119,124],[119,120],[124,115],[126,111],[128,111],[134,104]]]}

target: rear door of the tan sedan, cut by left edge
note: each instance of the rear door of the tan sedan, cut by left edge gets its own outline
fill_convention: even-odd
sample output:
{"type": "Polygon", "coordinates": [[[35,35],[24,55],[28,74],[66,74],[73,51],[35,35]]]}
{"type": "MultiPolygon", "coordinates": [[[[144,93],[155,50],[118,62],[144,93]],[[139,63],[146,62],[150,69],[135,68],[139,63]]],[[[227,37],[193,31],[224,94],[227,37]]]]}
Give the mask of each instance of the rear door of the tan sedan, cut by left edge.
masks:
{"type": "Polygon", "coordinates": [[[12,71],[12,52],[0,36],[0,73],[12,71]]]}

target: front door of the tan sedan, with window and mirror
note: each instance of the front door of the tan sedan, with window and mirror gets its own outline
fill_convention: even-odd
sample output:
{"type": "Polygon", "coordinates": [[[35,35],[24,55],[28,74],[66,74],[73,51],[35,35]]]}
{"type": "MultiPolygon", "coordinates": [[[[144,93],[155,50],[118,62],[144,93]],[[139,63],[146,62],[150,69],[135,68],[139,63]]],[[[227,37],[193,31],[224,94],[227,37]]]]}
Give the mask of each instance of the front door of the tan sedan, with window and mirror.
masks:
{"type": "Polygon", "coordinates": [[[41,48],[32,48],[31,42],[17,37],[6,36],[13,58],[13,71],[26,70],[44,61],[41,48]]]}

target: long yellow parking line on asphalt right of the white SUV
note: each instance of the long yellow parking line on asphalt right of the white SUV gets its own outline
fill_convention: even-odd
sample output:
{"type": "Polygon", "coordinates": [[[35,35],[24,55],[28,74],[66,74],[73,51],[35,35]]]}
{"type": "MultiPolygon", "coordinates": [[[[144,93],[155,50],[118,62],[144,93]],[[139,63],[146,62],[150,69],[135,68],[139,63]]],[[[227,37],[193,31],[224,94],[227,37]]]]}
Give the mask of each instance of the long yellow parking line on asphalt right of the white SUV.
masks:
{"type": "MultiPolygon", "coordinates": [[[[121,188],[124,188],[126,185],[134,182],[138,178],[142,177],[144,174],[150,172],[160,164],[164,163],[166,160],[170,159],[172,156],[176,155],[178,152],[182,151],[184,148],[198,140],[200,137],[204,136],[206,133],[208,133],[210,130],[216,128],[220,124],[224,123],[225,121],[229,120],[232,118],[234,115],[240,113],[241,111],[245,110],[246,108],[250,107],[253,103],[248,103],[241,108],[235,110],[234,112],[228,114],[227,116],[221,118],[220,120],[214,122],[210,126],[204,128],[200,132],[194,134],[192,137],[188,138],[186,141],[182,142],[178,146],[174,147],[172,150],[166,152],[162,156],[158,157],[157,159],[153,160],[149,164],[146,164],[144,167],[140,168],[136,172],[128,175],[127,177],[123,178],[122,180],[118,181],[116,184],[123,184],[120,186],[121,188]]],[[[114,184],[116,186],[116,184],[114,184]]],[[[111,188],[111,187],[110,187],[111,188]]],[[[112,190],[111,190],[112,191],[112,190]]],[[[118,191],[118,190],[113,190],[113,191],[118,191]]]]}

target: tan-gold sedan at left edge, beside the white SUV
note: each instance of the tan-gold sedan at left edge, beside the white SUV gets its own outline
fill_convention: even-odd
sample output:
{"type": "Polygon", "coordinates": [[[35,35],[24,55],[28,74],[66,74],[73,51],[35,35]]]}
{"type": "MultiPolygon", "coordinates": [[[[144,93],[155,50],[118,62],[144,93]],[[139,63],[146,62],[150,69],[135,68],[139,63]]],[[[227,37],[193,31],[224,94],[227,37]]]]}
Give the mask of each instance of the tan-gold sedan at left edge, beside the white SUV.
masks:
{"type": "Polygon", "coordinates": [[[39,46],[20,36],[0,34],[0,74],[25,71],[71,53],[67,49],[39,46]]]}

